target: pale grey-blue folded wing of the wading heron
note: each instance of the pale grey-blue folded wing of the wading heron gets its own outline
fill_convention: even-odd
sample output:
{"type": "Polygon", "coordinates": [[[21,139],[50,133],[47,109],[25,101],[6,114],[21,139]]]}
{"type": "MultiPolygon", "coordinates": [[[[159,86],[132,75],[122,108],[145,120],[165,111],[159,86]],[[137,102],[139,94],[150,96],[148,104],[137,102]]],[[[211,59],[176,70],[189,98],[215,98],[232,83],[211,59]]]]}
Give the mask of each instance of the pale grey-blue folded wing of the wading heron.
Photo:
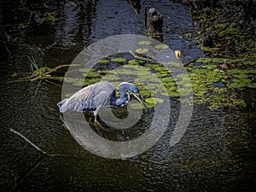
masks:
{"type": "Polygon", "coordinates": [[[96,111],[106,105],[113,94],[113,84],[99,82],[74,93],[67,102],[67,108],[74,111],[96,111]]]}

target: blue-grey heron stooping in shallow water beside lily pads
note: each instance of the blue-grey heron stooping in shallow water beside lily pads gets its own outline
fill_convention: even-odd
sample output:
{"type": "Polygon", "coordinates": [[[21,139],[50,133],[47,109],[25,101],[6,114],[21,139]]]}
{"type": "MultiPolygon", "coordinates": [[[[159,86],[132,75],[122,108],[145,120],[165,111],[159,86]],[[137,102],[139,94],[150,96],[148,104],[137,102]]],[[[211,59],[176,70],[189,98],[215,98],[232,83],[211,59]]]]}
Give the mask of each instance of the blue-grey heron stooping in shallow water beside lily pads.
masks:
{"type": "Polygon", "coordinates": [[[116,97],[113,84],[102,81],[96,84],[90,84],[78,90],[73,96],[68,99],[63,99],[61,102],[58,102],[57,105],[61,113],[66,112],[68,109],[79,112],[93,112],[95,122],[100,125],[96,120],[99,109],[109,105],[113,107],[123,106],[130,101],[130,94],[135,96],[148,111],[142,97],[139,95],[137,86],[128,82],[119,84],[119,98],[116,97]]]}

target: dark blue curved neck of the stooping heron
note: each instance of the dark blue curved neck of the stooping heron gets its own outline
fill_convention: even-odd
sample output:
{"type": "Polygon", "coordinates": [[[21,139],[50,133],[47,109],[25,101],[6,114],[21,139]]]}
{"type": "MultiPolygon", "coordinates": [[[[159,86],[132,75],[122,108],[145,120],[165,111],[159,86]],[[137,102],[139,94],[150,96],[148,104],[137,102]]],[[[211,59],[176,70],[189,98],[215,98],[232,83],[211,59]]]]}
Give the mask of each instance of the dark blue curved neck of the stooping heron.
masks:
{"type": "Polygon", "coordinates": [[[126,90],[129,89],[129,84],[119,84],[119,94],[120,97],[117,98],[115,94],[115,90],[113,91],[113,95],[111,96],[110,99],[110,105],[112,106],[122,106],[125,103],[130,101],[130,95],[126,92],[126,90]]]}

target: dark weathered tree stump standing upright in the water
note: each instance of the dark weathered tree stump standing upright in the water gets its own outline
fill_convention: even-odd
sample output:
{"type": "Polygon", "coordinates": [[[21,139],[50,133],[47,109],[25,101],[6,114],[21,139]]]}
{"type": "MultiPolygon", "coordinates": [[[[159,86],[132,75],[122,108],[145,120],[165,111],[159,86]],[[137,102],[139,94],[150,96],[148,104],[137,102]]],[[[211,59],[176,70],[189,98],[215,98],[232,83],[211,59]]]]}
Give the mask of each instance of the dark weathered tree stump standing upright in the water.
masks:
{"type": "Polygon", "coordinates": [[[146,9],[145,17],[148,36],[160,38],[163,33],[163,15],[155,9],[146,9]]]}

